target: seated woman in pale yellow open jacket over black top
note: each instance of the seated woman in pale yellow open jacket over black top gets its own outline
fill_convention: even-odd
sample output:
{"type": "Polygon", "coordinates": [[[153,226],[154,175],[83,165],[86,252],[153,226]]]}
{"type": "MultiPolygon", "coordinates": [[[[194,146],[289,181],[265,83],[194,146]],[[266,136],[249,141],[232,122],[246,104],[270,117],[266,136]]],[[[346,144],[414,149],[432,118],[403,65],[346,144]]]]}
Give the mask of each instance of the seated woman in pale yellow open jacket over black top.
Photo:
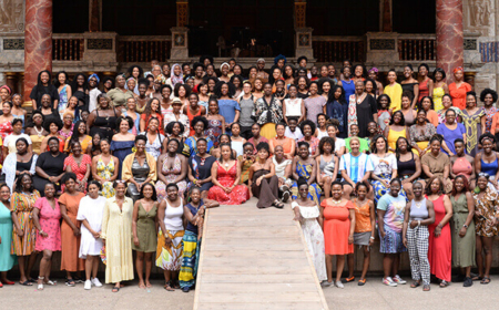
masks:
{"type": "Polygon", "coordinates": [[[144,135],[135,137],[135,153],[123,161],[122,179],[128,183],[126,194],[135,203],[141,196],[143,184],[156,180],[156,159],[145,152],[147,138],[144,135]]]}

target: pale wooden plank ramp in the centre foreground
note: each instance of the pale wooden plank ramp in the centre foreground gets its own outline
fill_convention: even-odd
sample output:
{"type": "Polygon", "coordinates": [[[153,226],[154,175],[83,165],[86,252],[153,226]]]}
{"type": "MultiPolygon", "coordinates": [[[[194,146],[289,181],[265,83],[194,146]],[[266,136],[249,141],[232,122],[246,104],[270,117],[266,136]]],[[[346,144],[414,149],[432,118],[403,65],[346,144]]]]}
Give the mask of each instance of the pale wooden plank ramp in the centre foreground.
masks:
{"type": "Polygon", "coordinates": [[[194,298],[201,309],[328,309],[289,205],[208,209],[194,298]]]}

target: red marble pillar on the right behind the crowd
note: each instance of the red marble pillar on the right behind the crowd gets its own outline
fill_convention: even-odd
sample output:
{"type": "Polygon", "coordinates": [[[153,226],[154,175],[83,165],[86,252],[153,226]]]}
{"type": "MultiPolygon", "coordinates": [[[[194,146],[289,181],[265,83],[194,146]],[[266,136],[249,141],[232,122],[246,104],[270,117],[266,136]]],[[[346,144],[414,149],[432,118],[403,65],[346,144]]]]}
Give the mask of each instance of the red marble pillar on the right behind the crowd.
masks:
{"type": "Polygon", "coordinates": [[[464,64],[462,0],[437,0],[437,66],[454,82],[452,70],[464,64]]]}

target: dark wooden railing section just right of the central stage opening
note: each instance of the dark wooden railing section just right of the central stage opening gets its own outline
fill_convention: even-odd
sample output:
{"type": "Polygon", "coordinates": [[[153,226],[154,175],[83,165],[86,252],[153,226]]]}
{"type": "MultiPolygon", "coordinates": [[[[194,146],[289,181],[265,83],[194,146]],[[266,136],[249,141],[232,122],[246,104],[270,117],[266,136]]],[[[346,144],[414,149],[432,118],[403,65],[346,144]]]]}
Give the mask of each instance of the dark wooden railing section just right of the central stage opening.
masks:
{"type": "Polygon", "coordinates": [[[313,37],[312,46],[317,62],[365,61],[363,37],[313,37]]]}

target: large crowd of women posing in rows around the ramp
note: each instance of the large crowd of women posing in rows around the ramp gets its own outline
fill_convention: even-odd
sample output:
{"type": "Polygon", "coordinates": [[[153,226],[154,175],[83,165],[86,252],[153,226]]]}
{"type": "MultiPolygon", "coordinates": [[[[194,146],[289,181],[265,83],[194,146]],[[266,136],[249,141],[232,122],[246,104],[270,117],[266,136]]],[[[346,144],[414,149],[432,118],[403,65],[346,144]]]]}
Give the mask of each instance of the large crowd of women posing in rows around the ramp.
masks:
{"type": "Polygon", "coordinates": [[[337,71],[279,55],[269,73],[264,62],[245,75],[233,59],[220,72],[211,56],[152,61],[145,73],[132,65],[115,79],[78,73],[72,82],[45,70],[24,99],[30,113],[1,86],[0,287],[14,283],[7,271],[16,264],[22,286],[57,285],[61,251],[70,287],[102,287],[102,261],[113,292],[135,275],[147,288],[154,264],[165,290],[189,292],[205,209],[252,196],[258,208],[293,200],[323,287],[355,280],[354,246],[365,285],[378,238],[387,286],[406,283],[398,269],[407,250],[413,288],[490,282],[496,91],[477,95],[462,68],[446,84],[450,72],[427,64],[383,81],[378,69],[349,61],[337,71]]]}

